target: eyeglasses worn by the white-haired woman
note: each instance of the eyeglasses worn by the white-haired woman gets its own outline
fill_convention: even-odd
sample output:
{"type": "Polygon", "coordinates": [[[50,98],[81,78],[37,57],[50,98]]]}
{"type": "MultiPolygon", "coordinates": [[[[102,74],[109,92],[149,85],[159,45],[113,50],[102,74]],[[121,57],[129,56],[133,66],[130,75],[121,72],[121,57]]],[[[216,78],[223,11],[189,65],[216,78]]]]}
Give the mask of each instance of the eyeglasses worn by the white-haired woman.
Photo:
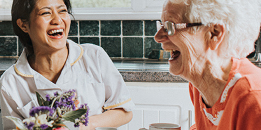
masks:
{"type": "Polygon", "coordinates": [[[157,21],[157,31],[159,31],[162,27],[164,27],[164,31],[168,33],[168,36],[173,36],[175,34],[176,29],[183,29],[187,27],[199,26],[202,23],[172,23],[166,21],[164,23],[157,21]]]}

